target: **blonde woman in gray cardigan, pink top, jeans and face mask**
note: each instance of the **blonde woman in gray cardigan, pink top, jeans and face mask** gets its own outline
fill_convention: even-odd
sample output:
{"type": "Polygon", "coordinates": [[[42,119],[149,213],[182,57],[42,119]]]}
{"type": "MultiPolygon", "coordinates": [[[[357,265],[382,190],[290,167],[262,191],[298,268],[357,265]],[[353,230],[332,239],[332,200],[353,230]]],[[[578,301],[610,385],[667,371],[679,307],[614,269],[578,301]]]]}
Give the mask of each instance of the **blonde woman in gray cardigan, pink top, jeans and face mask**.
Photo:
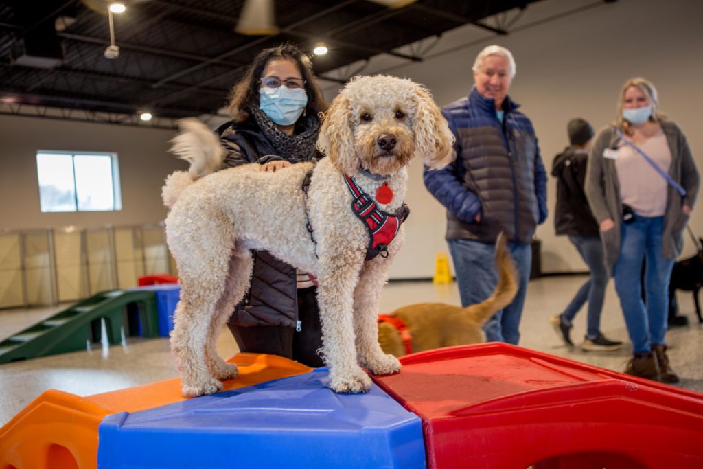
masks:
{"type": "Polygon", "coordinates": [[[651,82],[625,83],[617,121],[598,134],[588,156],[586,197],[600,224],[605,263],[632,341],[625,373],[677,383],[664,340],[668,287],[699,174],[683,131],[657,108],[651,82]]]}

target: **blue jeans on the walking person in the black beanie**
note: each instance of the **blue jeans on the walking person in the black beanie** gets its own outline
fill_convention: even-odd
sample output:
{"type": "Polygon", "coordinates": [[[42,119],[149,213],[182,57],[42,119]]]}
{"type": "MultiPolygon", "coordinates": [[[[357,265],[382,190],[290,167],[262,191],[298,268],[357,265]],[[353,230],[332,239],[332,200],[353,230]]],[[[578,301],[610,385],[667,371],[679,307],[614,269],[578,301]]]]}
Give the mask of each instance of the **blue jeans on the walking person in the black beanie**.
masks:
{"type": "Polygon", "coordinates": [[[562,313],[562,320],[571,326],[574,316],[579,312],[583,303],[588,300],[588,320],[586,338],[595,339],[600,335],[600,312],[605,300],[605,287],[608,284],[608,271],[603,259],[603,245],[600,238],[594,236],[569,236],[569,241],[579,251],[583,262],[591,270],[591,277],[581,285],[579,291],[562,313]]]}

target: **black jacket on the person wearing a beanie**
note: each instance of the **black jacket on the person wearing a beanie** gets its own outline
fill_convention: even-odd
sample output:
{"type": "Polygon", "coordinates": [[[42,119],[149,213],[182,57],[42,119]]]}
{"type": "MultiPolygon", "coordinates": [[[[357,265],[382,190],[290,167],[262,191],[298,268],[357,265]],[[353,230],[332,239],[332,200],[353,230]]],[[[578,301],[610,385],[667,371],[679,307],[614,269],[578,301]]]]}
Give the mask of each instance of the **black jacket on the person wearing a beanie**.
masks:
{"type": "Polygon", "coordinates": [[[583,183],[586,181],[588,153],[568,146],[554,158],[552,176],[557,178],[557,208],[554,227],[557,235],[598,237],[598,223],[588,207],[583,183]]]}

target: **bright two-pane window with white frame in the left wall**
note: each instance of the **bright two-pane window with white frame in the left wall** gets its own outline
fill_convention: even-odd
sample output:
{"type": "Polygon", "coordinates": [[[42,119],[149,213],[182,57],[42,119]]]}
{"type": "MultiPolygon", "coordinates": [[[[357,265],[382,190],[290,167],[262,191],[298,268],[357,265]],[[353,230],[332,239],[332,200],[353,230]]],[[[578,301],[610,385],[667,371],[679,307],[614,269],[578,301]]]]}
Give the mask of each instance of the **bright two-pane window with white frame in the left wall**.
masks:
{"type": "Polygon", "coordinates": [[[115,153],[37,152],[41,212],[122,210],[115,153]]]}

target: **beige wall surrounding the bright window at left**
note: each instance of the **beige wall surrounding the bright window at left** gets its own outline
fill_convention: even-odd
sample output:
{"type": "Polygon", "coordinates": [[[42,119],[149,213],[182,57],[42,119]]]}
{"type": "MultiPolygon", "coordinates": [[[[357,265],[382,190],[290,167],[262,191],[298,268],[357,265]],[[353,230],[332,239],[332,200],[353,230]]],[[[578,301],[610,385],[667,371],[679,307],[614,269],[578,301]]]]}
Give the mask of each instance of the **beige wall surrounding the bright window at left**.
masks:
{"type": "Polygon", "coordinates": [[[155,223],[166,217],[161,186],[186,163],[167,153],[174,131],[0,115],[0,229],[155,223]],[[37,150],[115,152],[119,212],[41,213],[37,150]]]}

